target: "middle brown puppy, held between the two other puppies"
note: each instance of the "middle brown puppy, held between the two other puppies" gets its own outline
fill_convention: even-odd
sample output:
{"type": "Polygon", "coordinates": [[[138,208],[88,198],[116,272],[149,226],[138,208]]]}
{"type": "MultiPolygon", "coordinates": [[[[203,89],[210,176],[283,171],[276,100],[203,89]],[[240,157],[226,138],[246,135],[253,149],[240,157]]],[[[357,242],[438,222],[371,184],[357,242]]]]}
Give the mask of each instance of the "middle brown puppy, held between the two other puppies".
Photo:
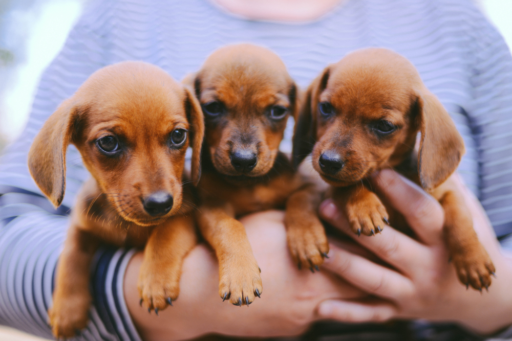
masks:
{"type": "MultiPolygon", "coordinates": [[[[297,89],[278,56],[250,44],[217,50],[184,82],[194,83],[205,118],[198,225],[219,260],[221,298],[248,305],[263,288],[236,217],[284,208],[302,184],[279,151],[288,117],[297,112],[297,89]]],[[[327,253],[326,239],[323,245],[327,253]]]]}

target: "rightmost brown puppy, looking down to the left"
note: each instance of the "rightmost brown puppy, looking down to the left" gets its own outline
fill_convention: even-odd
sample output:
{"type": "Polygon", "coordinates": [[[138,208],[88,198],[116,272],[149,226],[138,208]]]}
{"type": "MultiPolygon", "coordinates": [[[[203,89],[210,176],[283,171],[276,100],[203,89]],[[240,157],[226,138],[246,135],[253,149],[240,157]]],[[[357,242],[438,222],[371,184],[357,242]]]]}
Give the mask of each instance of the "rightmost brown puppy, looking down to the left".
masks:
{"type": "Polygon", "coordinates": [[[294,135],[294,163],[311,151],[314,169],[335,187],[333,196],[354,233],[374,235],[388,222],[386,208],[362,180],[393,167],[441,203],[444,237],[460,281],[479,290],[490,285],[494,265],[464,198],[445,181],[464,153],[462,138],[406,58],[364,49],[326,67],[308,88],[294,135]]]}

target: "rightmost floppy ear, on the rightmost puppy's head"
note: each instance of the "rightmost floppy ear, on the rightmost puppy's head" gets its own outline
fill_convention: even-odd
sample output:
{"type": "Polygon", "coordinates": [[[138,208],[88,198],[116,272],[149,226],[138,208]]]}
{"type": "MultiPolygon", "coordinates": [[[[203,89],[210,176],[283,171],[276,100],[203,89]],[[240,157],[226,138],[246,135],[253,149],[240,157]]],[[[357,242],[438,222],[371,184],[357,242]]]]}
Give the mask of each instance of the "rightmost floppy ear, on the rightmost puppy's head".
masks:
{"type": "Polygon", "coordinates": [[[430,191],[459,165],[464,142],[448,112],[434,94],[424,89],[417,100],[421,140],[418,172],[421,186],[430,191]]]}

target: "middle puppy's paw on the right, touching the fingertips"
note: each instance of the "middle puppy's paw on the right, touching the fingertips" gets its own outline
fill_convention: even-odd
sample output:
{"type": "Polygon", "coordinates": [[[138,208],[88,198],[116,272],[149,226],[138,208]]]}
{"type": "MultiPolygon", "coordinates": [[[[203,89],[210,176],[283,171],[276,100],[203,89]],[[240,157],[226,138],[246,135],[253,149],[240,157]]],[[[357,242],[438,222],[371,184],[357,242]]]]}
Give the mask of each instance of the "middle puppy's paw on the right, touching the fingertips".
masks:
{"type": "Polygon", "coordinates": [[[318,266],[324,262],[329,253],[329,243],[324,226],[316,219],[314,222],[304,222],[299,226],[287,226],[286,237],[291,256],[299,269],[309,268],[311,272],[319,271],[318,266]]]}

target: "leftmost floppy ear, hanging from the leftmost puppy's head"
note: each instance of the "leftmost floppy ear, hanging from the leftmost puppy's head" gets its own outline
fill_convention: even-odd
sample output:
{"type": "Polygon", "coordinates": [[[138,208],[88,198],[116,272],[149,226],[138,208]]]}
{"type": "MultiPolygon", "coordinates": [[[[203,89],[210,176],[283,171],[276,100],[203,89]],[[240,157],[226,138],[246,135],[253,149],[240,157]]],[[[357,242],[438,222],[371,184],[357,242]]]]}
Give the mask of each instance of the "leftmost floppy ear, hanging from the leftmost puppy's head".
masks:
{"type": "Polygon", "coordinates": [[[52,113],[37,133],[28,155],[28,166],[39,189],[55,207],[66,191],[66,150],[75,134],[79,109],[68,99],[52,113]]]}

